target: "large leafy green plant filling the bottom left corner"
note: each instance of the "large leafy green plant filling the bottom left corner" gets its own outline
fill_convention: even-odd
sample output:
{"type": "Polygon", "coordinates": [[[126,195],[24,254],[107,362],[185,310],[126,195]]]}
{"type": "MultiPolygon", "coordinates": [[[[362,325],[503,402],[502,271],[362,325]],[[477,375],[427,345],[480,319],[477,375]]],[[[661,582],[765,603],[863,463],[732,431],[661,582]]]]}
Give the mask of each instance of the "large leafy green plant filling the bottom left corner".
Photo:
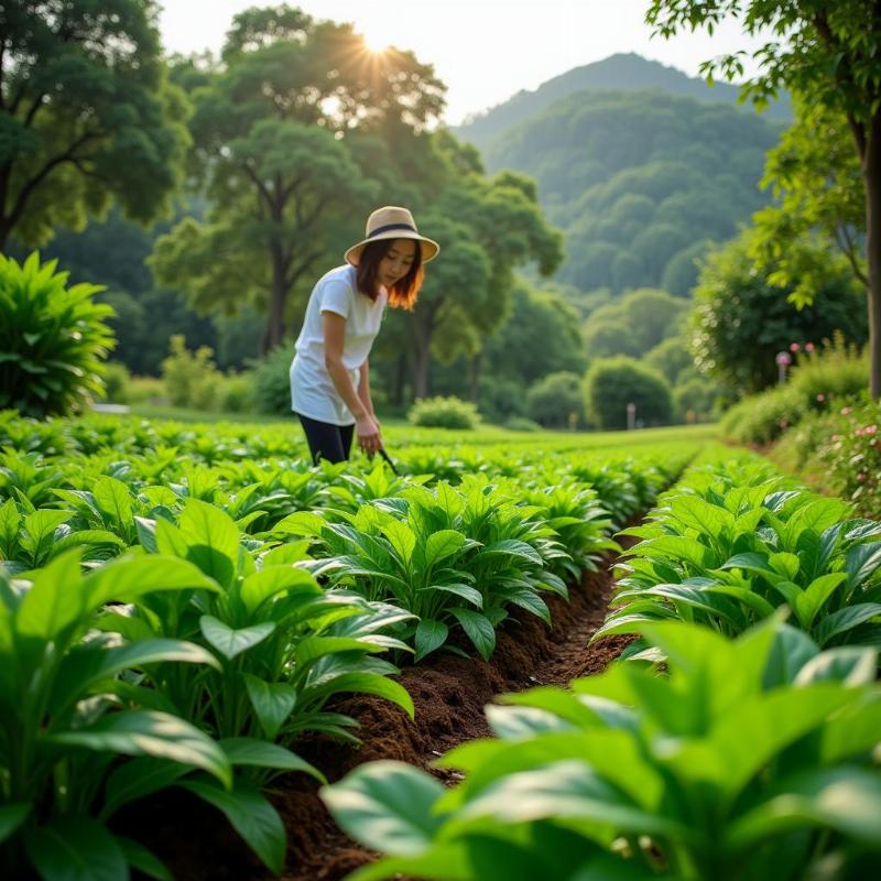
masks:
{"type": "MultiPolygon", "coordinates": [[[[8,502],[9,504],[9,502],[8,502]]],[[[21,878],[26,863],[41,878],[94,878],[104,867],[124,878],[128,864],[155,878],[167,872],[143,847],[104,825],[145,786],[124,785],[126,757],[163,769],[161,788],[200,771],[220,791],[232,787],[227,752],[189,721],[156,708],[146,689],[120,693],[126,671],[156,663],[216,666],[183,640],[124,641],[93,630],[101,608],[135,602],[148,591],[216,586],[174,558],[112,563],[80,575],[76,551],[12,580],[0,570],[0,867],[21,878]],[[70,853],[77,860],[70,860],[70,853]]]]}

